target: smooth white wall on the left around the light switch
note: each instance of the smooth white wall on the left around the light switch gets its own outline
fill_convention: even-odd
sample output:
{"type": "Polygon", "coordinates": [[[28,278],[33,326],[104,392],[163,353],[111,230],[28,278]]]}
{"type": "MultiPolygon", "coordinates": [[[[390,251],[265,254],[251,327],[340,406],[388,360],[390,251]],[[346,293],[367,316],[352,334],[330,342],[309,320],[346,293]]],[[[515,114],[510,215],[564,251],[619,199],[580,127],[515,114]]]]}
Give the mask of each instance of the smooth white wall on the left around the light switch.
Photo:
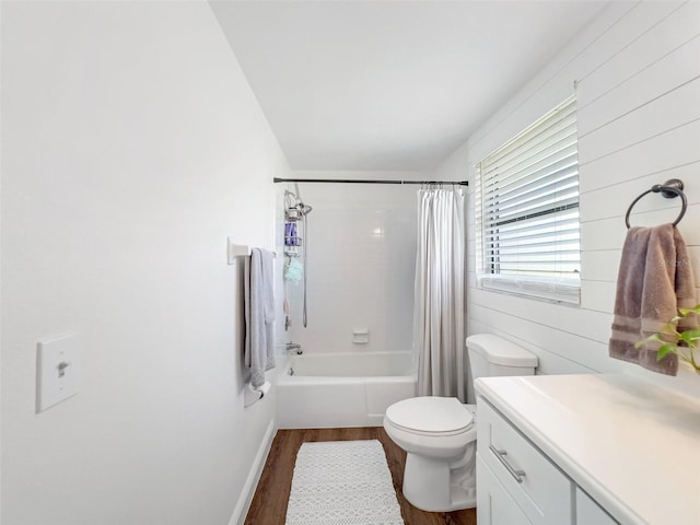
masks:
{"type": "Polygon", "coordinates": [[[226,524],[275,398],[225,238],[272,244],[278,143],[206,2],[2,2],[2,523],[226,524]],[[66,330],[80,393],[36,415],[66,330]]]}

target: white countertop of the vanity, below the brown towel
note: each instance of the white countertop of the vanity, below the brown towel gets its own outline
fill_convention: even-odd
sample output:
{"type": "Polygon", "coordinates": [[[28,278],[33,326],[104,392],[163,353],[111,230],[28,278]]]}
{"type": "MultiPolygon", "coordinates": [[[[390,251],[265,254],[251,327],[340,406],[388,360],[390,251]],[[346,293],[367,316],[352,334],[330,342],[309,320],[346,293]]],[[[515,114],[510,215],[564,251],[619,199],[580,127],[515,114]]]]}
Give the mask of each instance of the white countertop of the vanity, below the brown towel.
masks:
{"type": "Polygon", "coordinates": [[[700,401],[621,374],[475,386],[620,523],[700,524],[700,401]]]}

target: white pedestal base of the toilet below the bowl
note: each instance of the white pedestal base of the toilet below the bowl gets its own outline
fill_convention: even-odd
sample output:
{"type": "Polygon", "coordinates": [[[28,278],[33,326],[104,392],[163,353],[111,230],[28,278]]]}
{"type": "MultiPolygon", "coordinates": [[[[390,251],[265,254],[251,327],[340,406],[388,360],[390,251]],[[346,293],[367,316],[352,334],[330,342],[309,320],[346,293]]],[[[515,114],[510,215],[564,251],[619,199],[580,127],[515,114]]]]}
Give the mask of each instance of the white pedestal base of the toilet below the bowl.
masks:
{"type": "Polygon", "coordinates": [[[448,512],[472,509],[477,504],[476,441],[457,462],[408,453],[402,492],[417,509],[448,512]]]}

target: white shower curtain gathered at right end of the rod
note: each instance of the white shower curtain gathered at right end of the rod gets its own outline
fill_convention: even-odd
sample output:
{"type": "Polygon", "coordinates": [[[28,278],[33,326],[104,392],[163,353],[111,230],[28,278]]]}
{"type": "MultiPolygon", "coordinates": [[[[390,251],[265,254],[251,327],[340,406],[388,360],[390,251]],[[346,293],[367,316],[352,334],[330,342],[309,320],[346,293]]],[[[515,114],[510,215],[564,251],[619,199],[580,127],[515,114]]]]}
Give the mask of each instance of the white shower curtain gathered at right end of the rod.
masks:
{"type": "Polygon", "coordinates": [[[462,189],[419,190],[413,300],[419,396],[457,396],[457,352],[464,345],[464,247],[462,189]]]}

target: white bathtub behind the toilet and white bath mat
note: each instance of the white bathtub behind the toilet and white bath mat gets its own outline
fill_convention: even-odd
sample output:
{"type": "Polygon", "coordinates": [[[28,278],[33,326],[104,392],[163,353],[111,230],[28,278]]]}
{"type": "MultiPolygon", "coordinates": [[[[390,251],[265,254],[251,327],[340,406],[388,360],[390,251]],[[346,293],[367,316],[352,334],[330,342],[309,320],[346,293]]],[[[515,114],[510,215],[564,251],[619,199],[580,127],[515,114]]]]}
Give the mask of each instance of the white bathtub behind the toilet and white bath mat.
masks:
{"type": "Polygon", "coordinates": [[[280,429],[381,427],[386,408],[415,397],[411,352],[293,355],[277,383],[280,429]]]}

